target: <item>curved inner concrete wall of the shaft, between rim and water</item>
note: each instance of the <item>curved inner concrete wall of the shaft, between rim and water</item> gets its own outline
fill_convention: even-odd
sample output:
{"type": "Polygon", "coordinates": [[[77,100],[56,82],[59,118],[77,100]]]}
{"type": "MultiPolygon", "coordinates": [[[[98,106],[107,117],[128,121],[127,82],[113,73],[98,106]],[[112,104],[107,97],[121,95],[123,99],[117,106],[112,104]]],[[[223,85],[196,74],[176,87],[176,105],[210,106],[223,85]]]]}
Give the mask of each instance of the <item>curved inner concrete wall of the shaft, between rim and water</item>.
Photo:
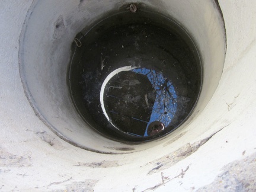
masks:
{"type": "MultiPolygon", "coordinates": [[[[156,145],[162,148],[160,144],[168,138],[161,143],[151,142],[147,145],[133,145],[131,148],[130,145],[106,139],[92,129],[85,129],[88,125],[78,116],[69,97],[65,74],[71,58],[71,43],[76,34],[85,25],[103,17],[105,12],[117,9],[117,6],[121,7],[127,2],[61,2],[62,5],[59,6],[59,1],[34,1],[21,32],[21,80],[36,114],[63,139],[90,151],[124,153],[124,150],[117,151],[116,148],[133,149],[132,152],[152,149],[152,146],[156,145]],[[99,8],[101,11],[97,11],[99,8]]],[[[164,5],[155,5],[152,2],[148,2],[150,7],[183,24],[199,47],[204,71],[203,87],[194,109],[197,114],[194,114],[188,123],[196,119],[219,84],[226,46],[222,18],[212,0],[201,0],[201,3],[197,4],[192,1],[183,4],[180,4],[180,1],[163,1],[164,5]],[[183,9],[186,11],[182,11],[183,9]],[[194,14],[195,12],[198,14],[194,14]]],[[[145,1],[143,3],[147,4],[145,1]]],[[[183,127],[183,132],[187,132],[188,127],[185,127],[185,124],[183,127]]],[[[205,129],[200,130],[205,132],[205,129]]]]}

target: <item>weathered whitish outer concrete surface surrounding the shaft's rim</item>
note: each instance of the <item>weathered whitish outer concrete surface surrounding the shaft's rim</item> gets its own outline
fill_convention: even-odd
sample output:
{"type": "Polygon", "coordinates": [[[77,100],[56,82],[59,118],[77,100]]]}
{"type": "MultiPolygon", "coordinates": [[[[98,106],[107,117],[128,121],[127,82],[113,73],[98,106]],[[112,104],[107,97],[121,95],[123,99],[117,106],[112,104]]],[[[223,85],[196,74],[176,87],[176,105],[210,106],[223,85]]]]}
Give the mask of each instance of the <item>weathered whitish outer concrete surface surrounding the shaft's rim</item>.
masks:
{"type": "Polygon", "coordinates": [[[1,191],[256,190],[256,1],[220,1],[228,40],[225,68],[200,116],[185,130],[177,130],[175,139],[126,155],[76,148],[35,116],[18,68],[19,38],[31,2],[0,2],[1,191]],[[211,135],[196,152],[188,147],[181,161],[148,174],[156,160],[161,164],[165,155],[180,152],[178,146],[211,135]]]}

